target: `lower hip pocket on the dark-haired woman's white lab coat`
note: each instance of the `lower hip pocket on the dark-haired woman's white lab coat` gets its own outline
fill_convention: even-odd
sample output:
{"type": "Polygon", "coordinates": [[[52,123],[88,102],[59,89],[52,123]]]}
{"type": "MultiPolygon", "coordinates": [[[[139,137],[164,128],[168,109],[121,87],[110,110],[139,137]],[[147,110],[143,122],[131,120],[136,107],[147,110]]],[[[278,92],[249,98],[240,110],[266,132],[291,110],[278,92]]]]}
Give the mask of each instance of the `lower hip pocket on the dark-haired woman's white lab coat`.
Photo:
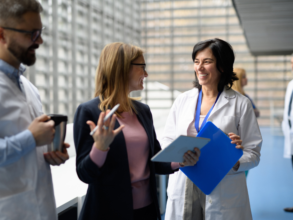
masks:
{"type": "Polygon", "coordinates": [[[223,208],[237,208],[246,204],[245,172],[226,175],[221,184],[221,205],[223,208]]]}

